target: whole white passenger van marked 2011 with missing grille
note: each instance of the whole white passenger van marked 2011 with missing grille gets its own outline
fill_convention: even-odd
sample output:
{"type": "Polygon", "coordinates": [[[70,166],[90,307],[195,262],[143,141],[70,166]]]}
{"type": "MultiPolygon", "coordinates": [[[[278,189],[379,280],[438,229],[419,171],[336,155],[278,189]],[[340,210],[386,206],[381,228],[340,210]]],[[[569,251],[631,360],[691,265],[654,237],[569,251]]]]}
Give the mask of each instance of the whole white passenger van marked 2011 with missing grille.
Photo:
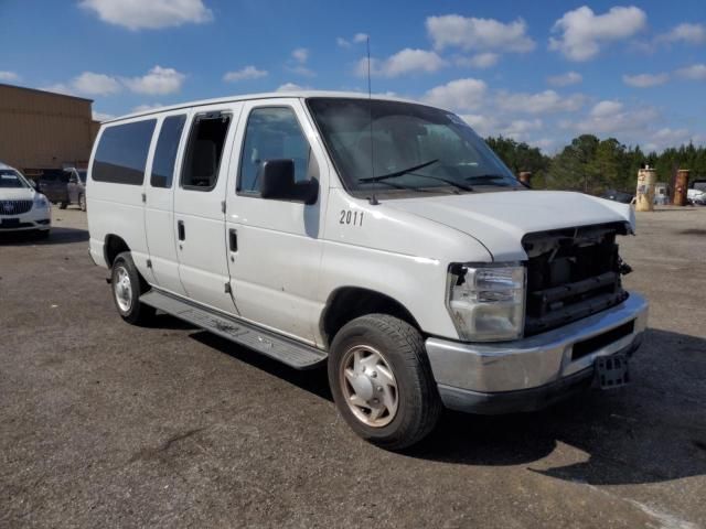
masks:
{"type": "Polygon", "coordinates": [[[524,187],[458,116],[340,93],[104,122],[90,255],[129,323],[156,310],[298,369],[402,449],[443,406],[528,411],[618,387],[646,325],[630,206],[524,187]]]}

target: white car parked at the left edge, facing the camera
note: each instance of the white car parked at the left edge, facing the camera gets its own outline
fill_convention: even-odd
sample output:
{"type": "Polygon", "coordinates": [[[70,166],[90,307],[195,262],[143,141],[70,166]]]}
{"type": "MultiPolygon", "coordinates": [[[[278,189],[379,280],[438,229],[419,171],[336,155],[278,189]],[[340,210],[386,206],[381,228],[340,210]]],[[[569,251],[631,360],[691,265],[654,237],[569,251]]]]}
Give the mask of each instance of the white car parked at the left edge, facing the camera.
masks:
{"type": "Polygon", "coordinates": [[[17,169],[0,163],[0,234],[35,231],[47,237],[51,204],[17,169]]]}

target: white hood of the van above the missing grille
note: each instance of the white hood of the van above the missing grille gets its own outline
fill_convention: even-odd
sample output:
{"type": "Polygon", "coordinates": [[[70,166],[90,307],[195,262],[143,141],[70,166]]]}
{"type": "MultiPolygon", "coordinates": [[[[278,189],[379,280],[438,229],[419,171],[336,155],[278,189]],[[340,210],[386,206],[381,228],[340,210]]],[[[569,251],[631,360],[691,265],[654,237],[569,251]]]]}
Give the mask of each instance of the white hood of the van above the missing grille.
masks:
{"type": "Polygon", "coordinates": [[[563,191],[501,191],[386,201],[385,206],[463,231],[495,261],[527,258],[522,238],[526,234],[606,223],[629,223],[634,212],[620,204],[581,193],[563,191]]]}

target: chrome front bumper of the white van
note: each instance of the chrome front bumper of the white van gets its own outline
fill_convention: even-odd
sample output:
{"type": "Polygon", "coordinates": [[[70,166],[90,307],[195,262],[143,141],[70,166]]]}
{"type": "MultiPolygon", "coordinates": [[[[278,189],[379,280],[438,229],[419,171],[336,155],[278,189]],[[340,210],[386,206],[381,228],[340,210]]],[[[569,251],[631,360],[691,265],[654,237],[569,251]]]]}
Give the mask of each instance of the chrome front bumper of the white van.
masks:
{"type": "Polygon", "coordinates": [[[646,300],[631,293],[619,305],[528,338],[494,344],[428,338],[426,348],[447,408],[532,411],[589,386],[597,357],[632,355],[646,323],[646,300]]]}

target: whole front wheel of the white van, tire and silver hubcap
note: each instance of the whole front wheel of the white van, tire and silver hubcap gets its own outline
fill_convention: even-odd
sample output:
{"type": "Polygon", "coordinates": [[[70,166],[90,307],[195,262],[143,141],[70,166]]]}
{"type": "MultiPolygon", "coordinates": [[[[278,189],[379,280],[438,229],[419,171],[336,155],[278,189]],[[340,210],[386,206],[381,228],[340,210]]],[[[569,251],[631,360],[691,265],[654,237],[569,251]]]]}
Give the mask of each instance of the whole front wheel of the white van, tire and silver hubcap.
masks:
{"type": "Polygon", "coordinates": [[[353,431],[388,450],[419,442],[441,411],[421,334],[387,314],[357,317],[339,331],[329,384],[353,431]]]}

